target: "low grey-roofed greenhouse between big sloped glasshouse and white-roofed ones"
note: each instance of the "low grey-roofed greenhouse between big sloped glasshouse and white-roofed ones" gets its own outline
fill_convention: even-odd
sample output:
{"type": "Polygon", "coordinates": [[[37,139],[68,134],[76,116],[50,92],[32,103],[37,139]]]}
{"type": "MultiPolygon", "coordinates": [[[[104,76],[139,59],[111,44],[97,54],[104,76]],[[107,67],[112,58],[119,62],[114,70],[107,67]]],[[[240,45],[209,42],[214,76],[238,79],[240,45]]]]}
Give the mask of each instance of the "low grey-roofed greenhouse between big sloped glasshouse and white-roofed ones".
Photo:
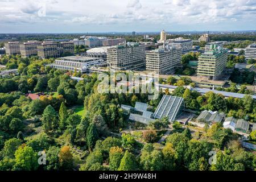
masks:
{"type": "Polygon", "coordinates": [[[197,117],[197,122],[204,122],[208,125],[212,125],[213,123],[222,122],[225,118],[224,113],[218,113],[218,111],[204,110],[201,112],[199,117],[197,117]]]}

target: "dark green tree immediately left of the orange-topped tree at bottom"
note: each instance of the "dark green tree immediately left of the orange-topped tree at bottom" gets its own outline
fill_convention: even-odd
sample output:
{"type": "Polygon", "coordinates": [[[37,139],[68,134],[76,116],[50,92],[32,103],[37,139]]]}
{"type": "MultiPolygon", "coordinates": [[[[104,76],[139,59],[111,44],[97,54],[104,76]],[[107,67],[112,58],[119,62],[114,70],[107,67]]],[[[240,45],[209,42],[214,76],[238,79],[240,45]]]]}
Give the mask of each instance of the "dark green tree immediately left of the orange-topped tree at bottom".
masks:
{"type": "Polygon", "coordinates": [[[60,153],[60,148],[56,146],[51,146],[47,150],[47,155],[46,155],[46,166],[44,169],[48,171],[56,171],[59,169],[60,164],[59,164],[59,153],[60,153]]]}

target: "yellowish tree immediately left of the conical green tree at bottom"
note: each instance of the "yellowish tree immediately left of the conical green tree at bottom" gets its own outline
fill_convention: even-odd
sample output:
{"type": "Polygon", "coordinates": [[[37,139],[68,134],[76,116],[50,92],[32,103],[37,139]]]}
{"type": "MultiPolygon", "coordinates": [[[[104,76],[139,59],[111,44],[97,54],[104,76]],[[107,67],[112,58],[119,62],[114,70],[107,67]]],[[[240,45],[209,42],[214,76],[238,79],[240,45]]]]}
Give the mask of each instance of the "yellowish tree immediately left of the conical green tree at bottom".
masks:
{"type": "Polygon", "coordinates": [[[111,147],[109,150],[109,168],[117,171],[123,158],[123,149],[120,147],[111,147]]]}

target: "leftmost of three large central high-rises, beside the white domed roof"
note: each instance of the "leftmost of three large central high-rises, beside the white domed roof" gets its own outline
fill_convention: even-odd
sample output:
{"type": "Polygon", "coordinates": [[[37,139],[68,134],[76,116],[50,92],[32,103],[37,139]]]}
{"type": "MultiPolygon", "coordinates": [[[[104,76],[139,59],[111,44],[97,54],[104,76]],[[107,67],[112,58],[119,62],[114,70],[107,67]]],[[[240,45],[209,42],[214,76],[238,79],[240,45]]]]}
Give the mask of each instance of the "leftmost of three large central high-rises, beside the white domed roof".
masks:
{"type": "Polygon", "coordinates": [[[145,46],[138,43],[127,43],[127,46],[110,47],[107,61],[110,68],[118,71],[145,67],[145,46]]]}

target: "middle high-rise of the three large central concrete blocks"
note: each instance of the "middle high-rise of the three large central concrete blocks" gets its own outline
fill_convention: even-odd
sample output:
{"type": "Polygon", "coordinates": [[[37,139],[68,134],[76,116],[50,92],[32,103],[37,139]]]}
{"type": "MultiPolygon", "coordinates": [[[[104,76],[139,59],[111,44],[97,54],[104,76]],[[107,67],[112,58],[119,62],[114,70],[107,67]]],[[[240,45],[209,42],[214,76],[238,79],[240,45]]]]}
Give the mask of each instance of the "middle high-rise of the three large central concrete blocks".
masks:
{"type": "Polygon", "coordinates": [[[146,53],[147,72],[163,74],[181,63],[181,49],[155,49],[146,53]]]}

